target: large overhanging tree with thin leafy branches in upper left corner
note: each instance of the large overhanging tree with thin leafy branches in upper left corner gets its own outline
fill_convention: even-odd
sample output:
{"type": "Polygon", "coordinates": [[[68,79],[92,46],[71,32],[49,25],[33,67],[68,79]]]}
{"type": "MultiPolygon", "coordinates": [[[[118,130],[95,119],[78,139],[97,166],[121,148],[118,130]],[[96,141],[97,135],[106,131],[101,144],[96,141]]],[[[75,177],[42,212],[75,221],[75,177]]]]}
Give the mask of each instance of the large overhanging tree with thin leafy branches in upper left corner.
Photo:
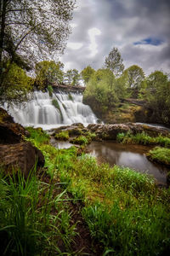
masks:
{"type": "Polygon", "coordinates": [[[34,61],[63,52],[74,6],[75,0],[1,0],[0,86],[10,68],[6,59],[29,68],[34,61]]]}

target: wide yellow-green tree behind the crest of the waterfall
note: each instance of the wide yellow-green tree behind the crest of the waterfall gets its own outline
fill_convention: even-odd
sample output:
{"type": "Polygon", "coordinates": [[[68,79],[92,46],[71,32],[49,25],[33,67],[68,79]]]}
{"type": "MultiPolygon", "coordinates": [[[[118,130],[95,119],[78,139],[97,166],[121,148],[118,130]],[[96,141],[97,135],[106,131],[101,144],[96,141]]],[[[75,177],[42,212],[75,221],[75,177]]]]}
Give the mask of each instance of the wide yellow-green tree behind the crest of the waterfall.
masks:
{"type": "Polygon", "coordinates": [[[38,89],[44,89],[49,84],[62,84],[64,80],[64,64],[60,61],[41,61],[36,64],[36,84],[38,89]]]}

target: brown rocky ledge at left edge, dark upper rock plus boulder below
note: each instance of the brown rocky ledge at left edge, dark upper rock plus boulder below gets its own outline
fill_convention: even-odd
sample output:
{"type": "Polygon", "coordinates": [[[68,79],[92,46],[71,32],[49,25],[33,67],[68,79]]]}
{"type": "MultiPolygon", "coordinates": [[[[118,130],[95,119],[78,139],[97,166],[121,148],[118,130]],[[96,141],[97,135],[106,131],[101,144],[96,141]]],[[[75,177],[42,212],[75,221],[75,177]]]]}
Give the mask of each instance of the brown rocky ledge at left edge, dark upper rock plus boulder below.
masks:
{"type": "Polygon", "coordinates": [[[20,169],[27,177],[36,164],[44,165],[42,152],[24,140],[28,136],[29,132],[0,108],[0,167],[4,172],[20,169]]]}

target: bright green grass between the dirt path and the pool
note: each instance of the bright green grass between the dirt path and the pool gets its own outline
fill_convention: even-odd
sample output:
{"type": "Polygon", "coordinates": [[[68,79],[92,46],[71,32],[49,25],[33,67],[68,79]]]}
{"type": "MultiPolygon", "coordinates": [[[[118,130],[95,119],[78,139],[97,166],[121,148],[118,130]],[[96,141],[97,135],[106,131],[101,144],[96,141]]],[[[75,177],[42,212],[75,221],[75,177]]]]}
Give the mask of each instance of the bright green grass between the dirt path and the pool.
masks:
{"type": "MultiPolygon", "coordinates": [[[[169,189],[157,188],[153,179],[129,168],[99,166],[88,154],[78,156],[75,147],[54,148],[41,130],[28,130],[31,137],[27,140],[45,156],[46,171],[71,193],[75,204],[82,201],[82,216],[101,254],[168,252],[169,189]]],[[[70,238],[70,233],[66,234],[70,238]]]]}

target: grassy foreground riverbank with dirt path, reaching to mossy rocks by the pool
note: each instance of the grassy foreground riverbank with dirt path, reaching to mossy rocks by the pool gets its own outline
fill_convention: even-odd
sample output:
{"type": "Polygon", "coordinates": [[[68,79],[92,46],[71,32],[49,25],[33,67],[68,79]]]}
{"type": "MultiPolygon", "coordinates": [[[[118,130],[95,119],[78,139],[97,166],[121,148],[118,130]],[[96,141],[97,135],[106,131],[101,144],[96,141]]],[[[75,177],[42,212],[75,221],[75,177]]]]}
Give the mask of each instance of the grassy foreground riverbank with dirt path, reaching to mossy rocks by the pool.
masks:
{"type": "MultiPolygon", "coordinates": [[[[120,127],[139,131],[137,126],[120,127]]],[[[94,157],[84,154],[84,145],[99,139],[99,134],[103,139],[115,137],[120,131],[116,125],[104,125],[105,133],[97,125],[96,134],[94,125],[88,127],[91,131],[80,124],[71,127],[51,134],[67,129],[71,139],[82,137],[79,148],[54,148],[49,134],[28,128],[24,141],[42,152],[44,166],[34,169],[33,175],[30,172],[26,180],[20,175],[19,179],[4,177],[1,172],[1,249],[42,255],[166,254],[169,189],[158,188],[153,179],[129,168],[98,165],[94,157]],[[9,246],[8,241],[12,241],[9,246]]]]}

